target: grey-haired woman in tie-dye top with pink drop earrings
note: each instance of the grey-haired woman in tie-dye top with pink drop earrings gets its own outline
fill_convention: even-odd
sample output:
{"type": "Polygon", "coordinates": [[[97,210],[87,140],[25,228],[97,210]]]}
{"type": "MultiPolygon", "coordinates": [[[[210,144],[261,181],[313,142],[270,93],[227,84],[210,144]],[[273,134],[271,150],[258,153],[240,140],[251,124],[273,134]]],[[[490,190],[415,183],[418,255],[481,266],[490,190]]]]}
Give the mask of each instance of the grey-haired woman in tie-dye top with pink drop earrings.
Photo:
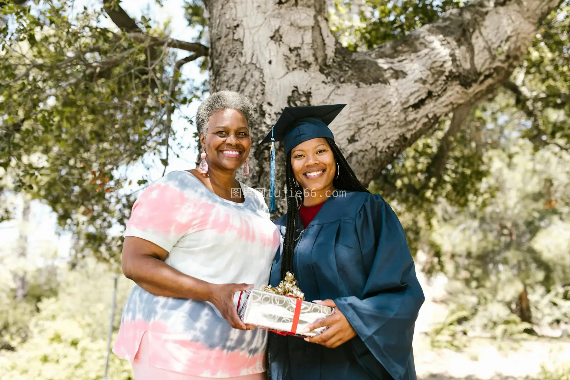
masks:
{"type": "Polygon", "coordinates": [[[133,205],[123,272],[136,282],[113,352],[136,380],[265,378],[266,333],[239,320],[234,295],[267,284],[279,247],[249,173],[253,106],[222,91],[198,108],[200,168],[162,177],[133,205]]]}

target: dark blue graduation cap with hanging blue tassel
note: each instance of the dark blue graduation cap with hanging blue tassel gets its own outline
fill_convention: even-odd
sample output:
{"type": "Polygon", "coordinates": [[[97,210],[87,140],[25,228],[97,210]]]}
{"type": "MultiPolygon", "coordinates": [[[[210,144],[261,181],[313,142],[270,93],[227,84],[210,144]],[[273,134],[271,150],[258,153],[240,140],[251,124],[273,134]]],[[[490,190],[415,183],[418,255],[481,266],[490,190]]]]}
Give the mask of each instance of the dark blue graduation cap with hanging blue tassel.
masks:
{"type": "Polygon", "coordinates": [[[275,211],[275,142],[283,142],[285,153],[300,143],[316,138],[334,139],[328,128],[346,104],[325,106],[285,107],[271,132],[260,144],[271,143],[270,211],[275,211]]]}

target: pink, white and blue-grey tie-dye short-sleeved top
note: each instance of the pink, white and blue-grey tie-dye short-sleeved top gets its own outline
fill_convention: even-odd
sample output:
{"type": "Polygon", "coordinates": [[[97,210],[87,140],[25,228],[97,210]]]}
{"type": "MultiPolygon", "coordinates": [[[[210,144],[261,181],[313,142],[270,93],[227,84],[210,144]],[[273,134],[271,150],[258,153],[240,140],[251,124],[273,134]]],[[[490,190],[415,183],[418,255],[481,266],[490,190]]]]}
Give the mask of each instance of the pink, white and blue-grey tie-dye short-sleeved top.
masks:
{"type": "MultiPolygon", "coordinates": [[[[267,284],[281,235],[260,192],[241,184],[243,203],[211,192],[190,172],[156,181],[133,205],[125,236],[169,252],[166,264],[214,284],[267,284]]],[[[193,376],[224,378],[265,371],[267,335],[231,328],[209,302],[153,296],[135,286],[113,352],[135,358],[143,334],[149,365],[193,376]]]]}

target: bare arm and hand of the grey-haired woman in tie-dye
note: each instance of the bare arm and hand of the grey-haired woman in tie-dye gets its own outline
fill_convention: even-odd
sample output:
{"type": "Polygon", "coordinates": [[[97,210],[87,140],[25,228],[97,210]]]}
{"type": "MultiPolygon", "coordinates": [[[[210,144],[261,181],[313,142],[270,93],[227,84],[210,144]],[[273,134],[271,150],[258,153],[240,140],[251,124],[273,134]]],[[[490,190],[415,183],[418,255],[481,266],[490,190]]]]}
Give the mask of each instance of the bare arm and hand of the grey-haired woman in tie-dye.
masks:
{"type": "Polygon", "coordinates": [[[253,288],[248,284],[211,284],[166,264],[168,252],[139,237],[127,236],[123,245],[123,273],[156,296],[211,302],[234,329],[251,330],[238,317],[234,294],[253,288]]]}

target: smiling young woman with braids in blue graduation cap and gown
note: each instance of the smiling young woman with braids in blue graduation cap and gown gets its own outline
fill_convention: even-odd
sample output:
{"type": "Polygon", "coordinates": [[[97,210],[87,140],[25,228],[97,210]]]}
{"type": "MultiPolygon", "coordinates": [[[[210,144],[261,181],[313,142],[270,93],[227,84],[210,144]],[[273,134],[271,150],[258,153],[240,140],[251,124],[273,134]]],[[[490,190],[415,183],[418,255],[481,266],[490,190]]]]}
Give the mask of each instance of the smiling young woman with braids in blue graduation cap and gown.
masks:
{"type": "Polygon", "coordinates": [[[415,380],[412,338],[424,294],[398,217],[356,179],[328,124],[344,107],[288,107],[263,142],[283,141],[287,214],[271,270],[331,306],[315,337],[270,334],[272,380],[415,380]]]}

